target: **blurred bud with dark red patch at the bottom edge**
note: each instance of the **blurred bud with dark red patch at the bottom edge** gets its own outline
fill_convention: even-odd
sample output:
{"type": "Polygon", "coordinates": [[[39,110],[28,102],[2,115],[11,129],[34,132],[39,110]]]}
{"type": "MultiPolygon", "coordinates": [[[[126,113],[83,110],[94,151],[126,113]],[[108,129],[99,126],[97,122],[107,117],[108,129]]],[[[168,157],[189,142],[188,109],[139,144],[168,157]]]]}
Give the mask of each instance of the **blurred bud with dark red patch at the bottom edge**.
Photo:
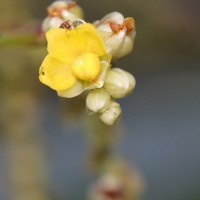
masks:
{"type": "Polygon", "coordinates": [[[144,181],[136,169],[125,162],[107,163],[103,175],[89,189],[88,200],[138,200],[144,181]]]}

